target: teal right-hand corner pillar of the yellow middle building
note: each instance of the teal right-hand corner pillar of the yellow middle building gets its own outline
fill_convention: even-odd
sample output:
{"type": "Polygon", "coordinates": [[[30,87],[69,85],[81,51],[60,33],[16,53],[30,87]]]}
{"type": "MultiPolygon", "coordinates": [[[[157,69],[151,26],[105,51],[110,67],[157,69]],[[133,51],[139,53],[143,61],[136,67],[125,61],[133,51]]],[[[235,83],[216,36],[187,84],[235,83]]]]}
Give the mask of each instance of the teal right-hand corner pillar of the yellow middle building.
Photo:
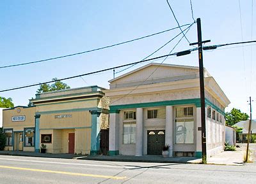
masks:
{"type": "Polygon", "coordinates": [[[100,111],[90,111],[92,115],[91,155],[97,155],[100,150],[100,111]]]}

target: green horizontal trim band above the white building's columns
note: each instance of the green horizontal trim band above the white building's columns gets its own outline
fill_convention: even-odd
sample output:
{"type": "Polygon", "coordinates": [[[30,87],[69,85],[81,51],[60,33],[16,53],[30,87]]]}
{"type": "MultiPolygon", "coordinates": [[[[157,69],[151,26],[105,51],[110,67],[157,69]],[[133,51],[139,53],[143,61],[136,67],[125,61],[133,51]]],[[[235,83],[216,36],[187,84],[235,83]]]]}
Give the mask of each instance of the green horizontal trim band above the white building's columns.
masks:
{"type": "MultiPolygon", "coordinates": [[[[177,106],[177,105],[186,105],[186,104],[195,104],[196,108],[201,107],[200,99],[182,99],[182,100],[173,100],[173,101],[160,101],[153,103],[136,103],[136,104],[123,104],[123,105],[115,105],[110,106],[109,113],[119,113],[120,110],[123,109],[131,109],[131,108],[150,108],[157,106],[177,106]]],[[[223,115],[225,115],[225,111],[221,110],[214,104],[212,104],[208,99],[205,98],[205,105],[212,106],[212,108],[216,109],[223,115]]]]}

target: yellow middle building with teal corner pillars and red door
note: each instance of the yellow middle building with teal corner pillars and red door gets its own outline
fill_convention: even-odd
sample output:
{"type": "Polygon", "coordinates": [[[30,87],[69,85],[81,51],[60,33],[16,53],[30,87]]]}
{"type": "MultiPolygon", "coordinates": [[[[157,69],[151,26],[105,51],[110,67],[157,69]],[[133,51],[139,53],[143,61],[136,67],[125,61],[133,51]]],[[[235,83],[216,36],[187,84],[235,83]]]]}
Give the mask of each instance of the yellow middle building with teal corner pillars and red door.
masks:
{"type": "Polygon", "coordinates": [[[100,130],[108,128],[108,102],[103,88],[92,86],[36,94],[35,151],[97,154],[100,130]]]}

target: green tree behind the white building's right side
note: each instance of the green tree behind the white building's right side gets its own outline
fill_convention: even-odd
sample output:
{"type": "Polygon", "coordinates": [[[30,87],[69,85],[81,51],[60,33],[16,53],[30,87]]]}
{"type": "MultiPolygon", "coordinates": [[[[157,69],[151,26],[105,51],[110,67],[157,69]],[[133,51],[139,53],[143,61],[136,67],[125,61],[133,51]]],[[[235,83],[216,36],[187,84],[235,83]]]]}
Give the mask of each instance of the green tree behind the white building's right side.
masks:
{"type": "Polygon", "coordinates": [[[225,113],[226,125],[233,126],[237,122],[248,120],[249,116],[246,113],[242,113],[241,110],[232,108],[230,112],[225,113]]]}

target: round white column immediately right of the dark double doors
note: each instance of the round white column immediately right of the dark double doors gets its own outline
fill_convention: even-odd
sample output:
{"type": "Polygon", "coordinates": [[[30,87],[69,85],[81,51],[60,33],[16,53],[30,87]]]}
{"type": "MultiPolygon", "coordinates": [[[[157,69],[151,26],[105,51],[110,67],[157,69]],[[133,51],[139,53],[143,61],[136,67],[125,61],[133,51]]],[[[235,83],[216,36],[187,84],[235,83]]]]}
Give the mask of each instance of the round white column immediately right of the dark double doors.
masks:
{"type": "Polygon", "coordinates": [[[173,157],[173,106],[166,106],[165,145],[169,145],[169,157],[173,157]]]}

